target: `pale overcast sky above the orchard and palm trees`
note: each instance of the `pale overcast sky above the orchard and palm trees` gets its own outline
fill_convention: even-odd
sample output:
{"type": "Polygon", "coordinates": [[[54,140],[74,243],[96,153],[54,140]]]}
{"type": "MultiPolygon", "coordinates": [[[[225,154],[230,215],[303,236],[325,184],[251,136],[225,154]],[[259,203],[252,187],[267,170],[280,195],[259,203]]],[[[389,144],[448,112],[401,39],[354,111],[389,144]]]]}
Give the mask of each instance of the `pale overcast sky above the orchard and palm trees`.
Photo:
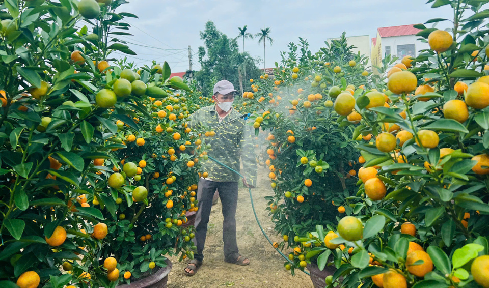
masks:
{"type": "MultiPolygon", "coordinates": [[[[317,51],[326,39],[339,37],[343,31],[346,36],[375,37],[378,27],[453,17],[448,6],[433,9],[425,3],[426,0],[131,0],[117,12],[139,17],[126,18],[134,36],[120,37],[134,43],[128,45],[138,53],[132,58],[138,66],[149,65],[151,60],[167,61],[172,72],[184,72],[188,69],[187,47],[191,45],[197,52],[202,46],[199,32],[208,20],[229,37],[236,37],[238,27],[244,25],[252,34],[263,26],[270,27],[274,43],[267,43],[266,47],[268,68],[280,61],[280,51],[287,49],[289,42],[297,43],[298,37],[308,39],[311,50],[317,51]]],[[[238,44],[242,50],[242,40],[238,44]]],[[[245,48],[252,56],[263,59],[263,44],[257,40],[246,40],[245,48]]],[[[193,56],[194,70],[200,70],[197,60],[197,55],[193,56]]]]}

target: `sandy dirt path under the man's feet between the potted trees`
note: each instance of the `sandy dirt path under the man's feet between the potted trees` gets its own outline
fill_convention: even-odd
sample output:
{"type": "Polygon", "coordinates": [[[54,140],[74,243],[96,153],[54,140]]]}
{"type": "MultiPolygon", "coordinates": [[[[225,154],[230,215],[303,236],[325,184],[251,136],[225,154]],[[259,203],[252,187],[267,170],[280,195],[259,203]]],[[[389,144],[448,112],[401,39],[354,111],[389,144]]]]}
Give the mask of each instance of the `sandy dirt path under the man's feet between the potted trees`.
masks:
{"type": "MultiPolygon", "coordinates": [[[[280,235],[273,230],[264,196],[273,194],[267,179],[268,172],[259,168],[258,188],[252,190],[253,202],[258,218],[265,232],[272,241],[280,241],[280,235]]],[[[241,185],[242,186],[242,185],[241,185]]],[[[238,266],[224,262],[223,253],[223,215],[221,201],[212,207],[207,239],[204,248],[204,262],[197,274],[188,277],[183,274],[187,261],[178,262],[177,257],[170,258],[173,262],[169,274],[169,288],[186,287],[282,287],[310,288],[313,287],[308,275],[296,271],[291,276],[284,269],[285,260],[268,243],[256,223],[251,207],[247,188],[239,189],[238,208],[236,212],[236,233],[240,254],[250,259],[250,265],[238,266]]],[[[286,251],[284,251],[284,254],[286,251]]]]}

